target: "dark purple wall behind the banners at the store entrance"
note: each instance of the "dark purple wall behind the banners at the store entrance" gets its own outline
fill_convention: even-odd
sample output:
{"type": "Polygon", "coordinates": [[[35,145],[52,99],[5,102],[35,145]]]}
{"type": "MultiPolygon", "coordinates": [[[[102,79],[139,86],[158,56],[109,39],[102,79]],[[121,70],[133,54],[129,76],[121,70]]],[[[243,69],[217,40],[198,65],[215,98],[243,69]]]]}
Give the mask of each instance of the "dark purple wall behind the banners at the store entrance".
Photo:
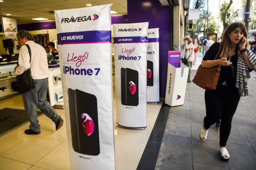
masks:
{"type": "Polygon", "coordinates": [[[172,50],[172,8],[161,6],[158,0],[127,0],[128,23],[149,22],[159,28],[160,97],[165,97],[168,51],[172,50]],[[143,4],[151,4],[143,6],[143,4]]]}

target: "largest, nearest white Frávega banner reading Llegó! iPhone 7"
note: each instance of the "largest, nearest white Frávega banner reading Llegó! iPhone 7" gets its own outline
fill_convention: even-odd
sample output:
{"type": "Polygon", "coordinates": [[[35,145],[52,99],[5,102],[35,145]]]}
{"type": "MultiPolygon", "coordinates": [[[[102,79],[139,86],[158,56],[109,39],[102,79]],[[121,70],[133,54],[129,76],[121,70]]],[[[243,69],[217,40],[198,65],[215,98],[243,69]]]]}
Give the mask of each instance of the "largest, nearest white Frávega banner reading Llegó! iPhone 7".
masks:
{"type": "Polygon", "coordinates": [[[71,169],[115,169],[110,6],[55,11],[71,169]]]}

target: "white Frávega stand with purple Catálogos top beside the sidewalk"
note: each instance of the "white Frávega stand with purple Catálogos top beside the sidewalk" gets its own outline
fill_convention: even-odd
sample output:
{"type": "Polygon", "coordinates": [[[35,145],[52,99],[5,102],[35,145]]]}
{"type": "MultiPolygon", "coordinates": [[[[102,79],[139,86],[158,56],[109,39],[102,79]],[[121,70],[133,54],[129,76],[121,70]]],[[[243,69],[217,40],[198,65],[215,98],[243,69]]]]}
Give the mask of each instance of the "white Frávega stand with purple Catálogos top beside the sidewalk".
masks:
{"type": "Polygon", "coordinates": [[[189,68],[180,64],[180,51],[168,51],[168,70],[165,104],[179,106],[184,104],[189,68]]]}

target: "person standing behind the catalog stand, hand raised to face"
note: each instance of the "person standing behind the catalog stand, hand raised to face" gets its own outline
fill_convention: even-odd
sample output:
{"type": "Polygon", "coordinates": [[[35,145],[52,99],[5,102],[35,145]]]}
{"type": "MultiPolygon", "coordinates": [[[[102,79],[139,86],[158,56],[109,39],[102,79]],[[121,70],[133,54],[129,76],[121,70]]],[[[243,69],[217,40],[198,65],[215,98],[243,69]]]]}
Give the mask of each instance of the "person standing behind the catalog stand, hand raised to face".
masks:
{"type": "Polygon", "coordinates": [[[195,58],[194,45],[189,36],[184,37],[183,41],[185,42],[185,48],[186,48],[184,58],[188,59],[188,62],[185,65],[189,67],[187,82],[190,83],[191,82],[191,67],[192,67],[192,62],[194,61],[194,58],[195,58]]]}

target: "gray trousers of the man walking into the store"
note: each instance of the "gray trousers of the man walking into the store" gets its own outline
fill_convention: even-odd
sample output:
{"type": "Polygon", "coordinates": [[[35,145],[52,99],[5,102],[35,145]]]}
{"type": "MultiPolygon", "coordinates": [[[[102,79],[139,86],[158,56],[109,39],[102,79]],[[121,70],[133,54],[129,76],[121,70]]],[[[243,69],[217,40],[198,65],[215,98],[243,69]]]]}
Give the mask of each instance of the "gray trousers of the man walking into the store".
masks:
{"type": "Polygon", "coordinates": [[[40,109],[48,118],[56,123],[61,116],[59,116],[50,103],[46,100],[48,89],[48,78],[34,80],[35,88],[22,94],[22,99],[25,111],[30,122],[29,128],[35,132],[39,132],[40,125],[37,119],[37,109],[40,109]]]}

